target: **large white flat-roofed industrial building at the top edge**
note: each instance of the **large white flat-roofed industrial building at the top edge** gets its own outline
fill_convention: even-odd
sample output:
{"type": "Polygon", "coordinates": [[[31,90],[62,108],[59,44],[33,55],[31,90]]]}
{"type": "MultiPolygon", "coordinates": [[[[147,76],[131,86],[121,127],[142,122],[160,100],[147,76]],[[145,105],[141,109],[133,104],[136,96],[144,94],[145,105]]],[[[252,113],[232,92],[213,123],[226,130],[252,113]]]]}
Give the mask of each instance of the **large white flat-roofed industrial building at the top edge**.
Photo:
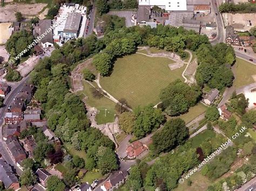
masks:
{"type": "Polygon", "coordinates": [[[186,0],[139,0],[139,5],[157,5],[166,11],[186,11],[186,0]]]}

